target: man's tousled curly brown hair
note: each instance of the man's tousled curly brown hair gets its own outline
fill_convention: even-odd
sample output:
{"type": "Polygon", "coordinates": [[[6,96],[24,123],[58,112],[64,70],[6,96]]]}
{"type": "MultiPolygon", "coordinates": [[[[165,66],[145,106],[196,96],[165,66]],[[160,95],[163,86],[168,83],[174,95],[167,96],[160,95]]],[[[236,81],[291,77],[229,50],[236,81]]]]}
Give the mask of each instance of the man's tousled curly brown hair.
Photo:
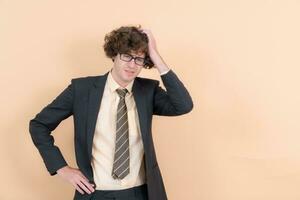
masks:
{"type": "Polygon", "coordinates": [[[105,35],[104,51],[108,58],[113,58],[118,53],[142,52],[145,53],[144,68],[154,66],[148,54],[148,37],[139,30],[140,26],[122,26],[105,35]]]}

